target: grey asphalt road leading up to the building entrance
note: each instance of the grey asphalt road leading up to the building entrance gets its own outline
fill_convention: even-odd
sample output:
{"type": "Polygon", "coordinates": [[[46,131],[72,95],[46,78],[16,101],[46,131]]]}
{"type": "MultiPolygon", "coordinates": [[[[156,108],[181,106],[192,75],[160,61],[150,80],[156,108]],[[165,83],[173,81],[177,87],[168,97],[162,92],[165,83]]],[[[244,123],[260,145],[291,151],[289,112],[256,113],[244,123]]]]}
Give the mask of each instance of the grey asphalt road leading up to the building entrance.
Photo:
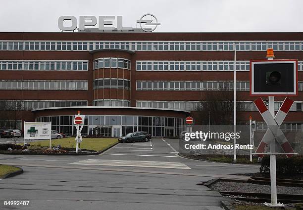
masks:
{"type": "Polygon", "coordinates": [[[15,209],[220,210],[219,202],[227,199],[197,184],[258,171],[189,160],[177,151],[177,139],[152,139],[119,143],[94,156],[0,155],[0,164],[24,169],[0,180],[0,210],[12,209],[3,205],[11,200],[30,201],[15,209]]]}

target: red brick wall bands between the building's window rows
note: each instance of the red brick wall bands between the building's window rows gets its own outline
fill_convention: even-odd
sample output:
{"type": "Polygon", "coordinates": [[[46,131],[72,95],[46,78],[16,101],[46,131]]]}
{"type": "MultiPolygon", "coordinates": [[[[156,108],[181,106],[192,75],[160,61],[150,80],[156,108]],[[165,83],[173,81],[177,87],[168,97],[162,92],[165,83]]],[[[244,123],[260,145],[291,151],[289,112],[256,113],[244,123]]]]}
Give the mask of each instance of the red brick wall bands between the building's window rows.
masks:
{"type": "MultiPolygon", "coordinates": [[[[92,40],[92,41],[303,41],[303,33],[47,33],[47,32],[0,32],[0,40],[92,40]]],[[[266,52],[238,51],[237,60],[265,59],[266,52]]],[[[276,51],[276,59],[303,60],[303,51],[276,51]]],[[[101,57],[120,57],[131,60],[131,71],[106,69],[105,78],[121,78],[127,75],[131,80],[131,90],[126,97],[121,95],[121,90],[111,90],[111,98],[131,99],[131,105],[136,105],[136,100],[203,100],[204,91],[136,91],[137,80],[194,80],[194,81],[225,81],[233,80],[233,72],[146,72],[136,71],[136,60],[230,60],[234,59],[232,51],[137,51],[134,54],[125,51],[98,51],[90,54],[88,51],[0,51],[1,60],[89,60],[89,71],[1,71],[0,80],[88,80],[88,91],[55,91],[55,90],[0,90],[0,99],[20,100],[88,100],[92,105],[96,98],[97,90],[93,90],[94,78],[102,78],[103,70],[93,73],[93,60],[101,57]],[[99,76],[96,77],[96,75],[99,76]],[[118,73],[118,76],[116,74],[118,73]]],[[[125,78],[125,77],[124,77],[125,78]]],[[[237,80],[249,80],[249,72],[237,72],[237,80]]],[[[303,81],[303,72],[299,72],[299,81],[303,81]]],[[[98,90],[98,97],[100,98],[98,90]]],[[[109,97],[109,91],[106,96],[109,97]]],[[[250,97],[248,91],[239,91],[242,100],[252,101],[256,97],[250,97]]],[[[303,92],[298,97],[292,97],[296,101],[303,101],[303,92]]],[[[276,101],[283,101],[282,97],[276,97],[276,101]]],[[[56,110],[57,112],[58,110],[56,110]]],[[[253,115],[260,119],[257,112],[245,112],[247,118],[253,115]]],[[[261,120],[261,119],[260,119],[261,120]]],[[[303,112],[291,112],[287,121],[303,121],[303,112]]]]}

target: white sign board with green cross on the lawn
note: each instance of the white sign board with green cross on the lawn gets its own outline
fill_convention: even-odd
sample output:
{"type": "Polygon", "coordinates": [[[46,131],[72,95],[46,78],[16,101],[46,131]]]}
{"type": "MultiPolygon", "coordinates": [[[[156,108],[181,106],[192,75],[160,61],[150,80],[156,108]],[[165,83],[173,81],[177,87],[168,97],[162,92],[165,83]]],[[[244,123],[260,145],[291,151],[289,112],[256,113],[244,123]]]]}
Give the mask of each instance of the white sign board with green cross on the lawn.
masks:
{"type": "Polygon", "coordinates": [[[24,139],[50,139],[51,123],[24,122],[24,139]]]}

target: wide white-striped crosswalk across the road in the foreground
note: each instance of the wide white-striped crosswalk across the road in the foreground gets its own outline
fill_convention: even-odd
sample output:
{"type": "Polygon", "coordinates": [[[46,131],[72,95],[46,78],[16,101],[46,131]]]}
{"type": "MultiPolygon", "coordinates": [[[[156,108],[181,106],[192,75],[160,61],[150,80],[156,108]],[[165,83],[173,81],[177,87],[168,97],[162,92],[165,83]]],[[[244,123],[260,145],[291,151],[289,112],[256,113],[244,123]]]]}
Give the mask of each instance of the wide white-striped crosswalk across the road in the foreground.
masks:
{"type": "Polygon", "coordinates": [[[73,165],[91,165],[91,166],[118,166],[118,167],[147,167],[147,168],[178,168],[191,169],[185,164],[176,162],[160,162],[160,161],[127,161],[127,160],[99,160],[87,159],[70,163],[73,165]]]}

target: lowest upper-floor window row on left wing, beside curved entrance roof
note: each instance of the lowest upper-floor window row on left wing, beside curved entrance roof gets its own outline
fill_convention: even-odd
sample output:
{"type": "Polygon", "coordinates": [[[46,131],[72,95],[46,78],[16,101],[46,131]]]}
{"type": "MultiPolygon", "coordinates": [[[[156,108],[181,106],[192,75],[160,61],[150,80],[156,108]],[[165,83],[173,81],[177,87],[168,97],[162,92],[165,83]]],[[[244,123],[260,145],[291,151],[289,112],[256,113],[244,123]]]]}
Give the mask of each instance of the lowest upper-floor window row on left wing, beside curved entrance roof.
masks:
{"type": "Polygon", "coordinates": [[[2,100],[0,110],[31,110],[50,107],[87,106],[87,101],[2,100]]]}

